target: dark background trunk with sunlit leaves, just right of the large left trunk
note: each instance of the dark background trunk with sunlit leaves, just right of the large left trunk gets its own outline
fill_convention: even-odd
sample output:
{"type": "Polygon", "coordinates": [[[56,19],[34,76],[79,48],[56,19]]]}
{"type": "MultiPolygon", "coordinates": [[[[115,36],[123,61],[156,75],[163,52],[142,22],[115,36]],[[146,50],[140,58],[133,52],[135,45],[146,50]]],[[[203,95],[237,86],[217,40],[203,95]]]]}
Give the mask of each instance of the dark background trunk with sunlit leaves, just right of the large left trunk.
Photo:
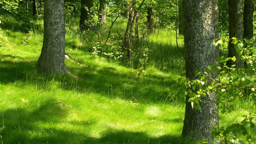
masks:
{"type": "Polygon", "coordinates": [[[81,0],[81,15],[79,22],[81,32],[96,30],[93,22],[93,15],[93,0],[81,0]]]}

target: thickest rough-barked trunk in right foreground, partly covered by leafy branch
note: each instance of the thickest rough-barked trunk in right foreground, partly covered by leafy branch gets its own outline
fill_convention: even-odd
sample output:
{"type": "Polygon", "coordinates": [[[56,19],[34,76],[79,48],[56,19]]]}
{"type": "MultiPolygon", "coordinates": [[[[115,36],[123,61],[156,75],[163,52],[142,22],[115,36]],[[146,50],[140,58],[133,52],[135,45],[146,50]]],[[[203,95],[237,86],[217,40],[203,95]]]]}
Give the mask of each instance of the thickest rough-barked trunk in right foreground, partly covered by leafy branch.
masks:
{"type": "MultiPolygon", "coordinates": [[[[214,5],[209,0],[184,0],[184,44],[186,76],[196,79],[196,71],[204,71],[216,61],[214,5]]],[[[214,78],[214,76],[213,76],[214,78]]],[[[188,101],[189,97],[187,97],[188,101]]],[[[201,97],[201,110],[193,110],[191,103],[186,102],[182,136],[194,139],[212,140],[211,130],[219,125],[217,97],[215,92],[201,97]]]]}

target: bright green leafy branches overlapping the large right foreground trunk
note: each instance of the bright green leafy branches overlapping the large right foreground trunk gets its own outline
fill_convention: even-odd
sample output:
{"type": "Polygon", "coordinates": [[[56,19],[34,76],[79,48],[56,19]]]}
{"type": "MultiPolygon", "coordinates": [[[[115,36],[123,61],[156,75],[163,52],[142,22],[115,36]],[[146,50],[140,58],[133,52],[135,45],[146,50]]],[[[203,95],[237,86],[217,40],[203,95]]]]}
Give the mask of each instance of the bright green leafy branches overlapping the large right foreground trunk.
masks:
{"type": "MultiPolygon", "coordinates": [[[[256,38],[244,39],[244,41],[235,37],[232,39],[232,44],[235,45],[236,51],[239,53],[238,57],[220,57],[218,63],[207,66],[204,71],[197,71],[195,79],[185,79],[187,81],[180,83],[184,85],[183,91],[189,97],[188,102],[191,103],[193,109],[201,109],[201,98],[209,96],[210,92],[215,92],[218,97],[216,104],[223,114],[232,111],[229,105],[238,97],[243,97],[243,99],[247,99],[246,101],[256,98],[256,38]],[[228,60],[236,62],[237,59],[246,62],[247,68],[238,68],[236,65],[226,66],[228,60]]],[[[213,44],[216,46],[219,44],[220,49],[227,47],[226,41],[214,41],[213,44]]],[[[214,141],[209,141],[209,143],[255,143],[255,134],[250,135],[249,132],[254,126],[255,119],[250,115],[246,116],[242,122],[225,127],[216,126],[212,130],[214,141]],[[241,135],[244,135],[246,140],[237,138],[241,135]]],[[[199,143],[204,142],[205,140],[202,139],[199,143]]]]}

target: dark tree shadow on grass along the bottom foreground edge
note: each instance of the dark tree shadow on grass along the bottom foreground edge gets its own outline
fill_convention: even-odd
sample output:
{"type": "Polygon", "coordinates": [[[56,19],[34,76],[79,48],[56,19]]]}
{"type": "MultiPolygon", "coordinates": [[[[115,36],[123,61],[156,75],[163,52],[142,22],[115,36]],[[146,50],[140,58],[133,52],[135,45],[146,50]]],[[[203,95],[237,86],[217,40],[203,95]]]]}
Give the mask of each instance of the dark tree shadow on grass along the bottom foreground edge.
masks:
{"type": "MultiPolygon", "coordinates": [[[[1,111],[4,128],[0,130],[3,143],[189,143],[177,134],[152,136],[146,132],[131,132],[118,128],[106,128],[95,137],[92,130],[98,120],[69,120],[72,108],[55,99],[44,99],[40,105],[8,108],[1,111]],[[32,106],[32,107],[31,107],[32,106]]],[[[2,120],[1,120],[2,121],[2,120]]],[[[150,133],[150,132],[149,132],[150,133]]],[[[155,134],[153,134],[155,135],[155,134]]]]}

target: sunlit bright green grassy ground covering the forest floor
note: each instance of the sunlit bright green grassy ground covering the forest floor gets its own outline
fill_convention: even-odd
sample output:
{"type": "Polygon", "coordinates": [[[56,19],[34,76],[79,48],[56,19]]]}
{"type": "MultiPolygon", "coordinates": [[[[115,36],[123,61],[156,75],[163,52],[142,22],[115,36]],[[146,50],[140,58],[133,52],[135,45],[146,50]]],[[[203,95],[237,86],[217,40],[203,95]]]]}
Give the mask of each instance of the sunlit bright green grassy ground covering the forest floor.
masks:
{"type": "MultiPolygon", "coordinates": [[[[172,31],[150,36],[149,64],[138,75],[120,60],[94,59],[90,49],[97,40],[81,40],[70,24],[66,51],[72,59],[65,63],[74,76],[46,76],[35,67],[42,32],[28,34],[16,26],[2,26],[1,34],[6,37],[0,46],[2,143],[193,143],[180,136],[184,104],[168,97],[185,73],[182,38],[176,49],[172,31]]],[[[113,46],[118,42],[102,47],[113,46]]],[[[221,126],[255,108],[252,102],[233,107],[220,114],[221,126]]]]}

